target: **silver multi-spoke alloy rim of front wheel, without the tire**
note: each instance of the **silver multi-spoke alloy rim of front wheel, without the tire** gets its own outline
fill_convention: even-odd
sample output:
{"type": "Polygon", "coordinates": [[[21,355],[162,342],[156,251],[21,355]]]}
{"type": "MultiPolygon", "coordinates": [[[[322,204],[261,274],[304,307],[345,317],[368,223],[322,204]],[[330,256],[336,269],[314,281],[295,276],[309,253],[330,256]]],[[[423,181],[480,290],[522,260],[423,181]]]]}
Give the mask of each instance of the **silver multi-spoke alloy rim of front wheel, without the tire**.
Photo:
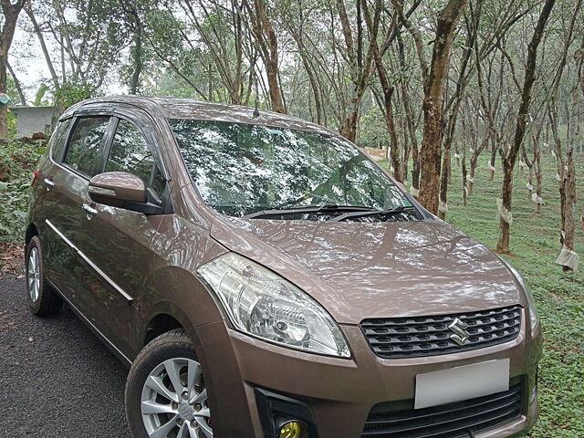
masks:
{"type": "Polygon", "coordinates": [[[142,387],[141,415],[150,438],[213,437],[201,364],[173,358],[151,370],[142,387]]]}

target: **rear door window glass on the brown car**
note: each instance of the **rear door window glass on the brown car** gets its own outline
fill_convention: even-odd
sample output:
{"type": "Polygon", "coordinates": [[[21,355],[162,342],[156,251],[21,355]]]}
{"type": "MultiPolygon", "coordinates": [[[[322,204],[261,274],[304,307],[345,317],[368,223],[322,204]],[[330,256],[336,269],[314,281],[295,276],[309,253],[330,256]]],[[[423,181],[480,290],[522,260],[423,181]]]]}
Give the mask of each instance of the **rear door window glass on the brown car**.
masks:
{"type": "Polygon", "coordinates": [[[89,177],[96,174],[99,148],[109,121],[107,116],[84,117],[76,121],[65,156],[69,167],[89,177]]]}

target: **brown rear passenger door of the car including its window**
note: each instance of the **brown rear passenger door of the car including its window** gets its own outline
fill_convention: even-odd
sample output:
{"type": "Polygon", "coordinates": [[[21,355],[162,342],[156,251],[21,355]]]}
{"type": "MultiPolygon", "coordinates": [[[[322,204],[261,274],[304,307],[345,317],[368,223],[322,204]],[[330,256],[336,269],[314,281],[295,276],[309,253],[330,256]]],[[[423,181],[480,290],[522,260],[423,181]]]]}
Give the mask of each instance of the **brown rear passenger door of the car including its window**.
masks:
{"type": "MultiPolygon", "coordinates": [[[[78,112],[67,120],[63,139],[50,151],[47,172],[39,175],[45,186],[42,208],[47,277],[66,297],[81,306],[86,266],[78,253],[82,210],[89,178],[96,174],[103,145],[110,129],[108,114],[78,112]]],[[[56,132],[57,134],[58,132],[56,132]]]]}

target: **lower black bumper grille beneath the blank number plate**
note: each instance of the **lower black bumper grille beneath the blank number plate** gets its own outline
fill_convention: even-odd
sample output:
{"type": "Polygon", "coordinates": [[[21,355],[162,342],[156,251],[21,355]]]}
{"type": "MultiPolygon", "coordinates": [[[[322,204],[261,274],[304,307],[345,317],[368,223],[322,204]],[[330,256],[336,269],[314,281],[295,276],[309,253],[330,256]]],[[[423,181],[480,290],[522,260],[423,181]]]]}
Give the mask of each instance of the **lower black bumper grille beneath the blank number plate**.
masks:
{"type": "Polygon", "coordinates": [[[412,409],[413,401],[373,407],[361,438],[472,438],[521,414],[521,382],[509,391],[432,408],[412,409]]]}

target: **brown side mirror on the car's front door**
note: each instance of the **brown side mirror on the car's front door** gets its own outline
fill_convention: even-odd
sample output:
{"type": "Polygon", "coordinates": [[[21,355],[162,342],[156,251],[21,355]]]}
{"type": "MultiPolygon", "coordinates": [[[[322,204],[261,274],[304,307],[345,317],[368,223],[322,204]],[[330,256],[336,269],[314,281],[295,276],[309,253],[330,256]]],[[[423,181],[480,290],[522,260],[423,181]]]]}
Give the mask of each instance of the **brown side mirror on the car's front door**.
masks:
{"type": "Polygon", "coordinates": [[[144,214],[156,214],[157,205],[147,203],[146,184],[128,172],[104,172],[89,181],[89,197],[96,203],[125,208],[144,214]]]}

